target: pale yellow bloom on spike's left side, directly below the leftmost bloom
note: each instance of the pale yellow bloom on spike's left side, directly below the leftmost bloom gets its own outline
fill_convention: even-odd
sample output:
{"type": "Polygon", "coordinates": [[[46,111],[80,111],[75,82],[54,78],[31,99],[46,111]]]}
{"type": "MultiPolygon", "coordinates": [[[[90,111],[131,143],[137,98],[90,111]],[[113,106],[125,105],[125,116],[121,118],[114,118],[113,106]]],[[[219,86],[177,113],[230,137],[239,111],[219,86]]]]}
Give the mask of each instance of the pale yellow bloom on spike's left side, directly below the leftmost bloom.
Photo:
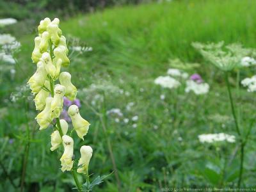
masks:
{"type": "MultiPolygon", "coordinates": [[[[50,90],[50,82],[45,81],[44,86],[50,90]]],[[[41,89],[40,92],[36,94],[35,97],[35,106],[36,110],[43,110],[45,107],[45,99],[49,96],[49,92],[45,91],[44,89],[41,89]]]]}

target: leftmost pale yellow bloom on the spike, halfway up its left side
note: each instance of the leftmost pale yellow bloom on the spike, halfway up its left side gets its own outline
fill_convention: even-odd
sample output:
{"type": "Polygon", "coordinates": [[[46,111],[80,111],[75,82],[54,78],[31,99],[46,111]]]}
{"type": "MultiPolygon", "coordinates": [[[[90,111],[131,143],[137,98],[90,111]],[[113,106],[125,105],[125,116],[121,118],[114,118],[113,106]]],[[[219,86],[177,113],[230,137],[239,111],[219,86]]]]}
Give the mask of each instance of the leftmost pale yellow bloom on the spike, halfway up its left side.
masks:
{"type": "Polygon", "coordinates": [[[33,76],[31,76],[28,80],[28,84],[33,94],[38,93],[41,90],[42,86],[44,86],[46,77],[47,72],[45,70],[44,63],[39,61],[37,63],[37,69],[35,74],[33,74],[33,76]]]}

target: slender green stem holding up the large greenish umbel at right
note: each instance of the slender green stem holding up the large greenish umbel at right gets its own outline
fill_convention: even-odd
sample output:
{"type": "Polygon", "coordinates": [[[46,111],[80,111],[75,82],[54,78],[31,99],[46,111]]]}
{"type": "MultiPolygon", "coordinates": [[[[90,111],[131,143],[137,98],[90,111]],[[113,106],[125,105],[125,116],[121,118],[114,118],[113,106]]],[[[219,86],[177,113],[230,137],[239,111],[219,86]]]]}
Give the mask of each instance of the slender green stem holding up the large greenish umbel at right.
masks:
{"type": "Polygon", "coordinates": [[[236,111],[235,111],[235,108],[234,108],[234,102],[233,102],[233,98],[232,98],[232,95],[231,95],[231,90],[230,90],[230,83],[228,82],[228,72],[225,73],[225,81],[226,81],[226,84],[227,84],[227,88],[228,88],[228,96],[229,96],[229,100],[230,100],[230,105],[231,105],[231,109],[232,109],[232,115],[234,117],[234,121],[235,121],[235,124],[236,124],[236,131],[237,131],[237,134],[239,134],[239,142],[240,142],[240,151],[241,151],[241,154],[240,154],[240,168],[239,168],[239,179],[238,179],[238,182],[237,182],[237,186],[240,187],[241,186],[241,182],[242,182],[242,177],[243,177],[243,163],[244,163],[244,142],[243,142],[243,138],[241,137],[241,132],[240,132],[240,129],[239,129],[239,125],[238,125],[238,122],[237,122],[237,116],[236,116],[236,111]]]}

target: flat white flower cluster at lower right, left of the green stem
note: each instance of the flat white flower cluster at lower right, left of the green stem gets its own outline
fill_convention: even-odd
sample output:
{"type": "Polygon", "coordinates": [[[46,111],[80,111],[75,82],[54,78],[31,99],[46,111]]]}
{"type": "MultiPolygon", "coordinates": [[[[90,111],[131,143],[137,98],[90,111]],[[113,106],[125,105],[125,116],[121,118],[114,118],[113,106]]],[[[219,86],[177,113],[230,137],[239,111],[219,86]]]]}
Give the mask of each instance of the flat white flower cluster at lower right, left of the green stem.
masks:
{"type": "Polygon", "coordinates": [[[223,132],[215,134],[200,134],[198,136],[200,143],[214,143],[220,141],[227,141],[228,143],[235,143],[236,137],[223,132]]]}

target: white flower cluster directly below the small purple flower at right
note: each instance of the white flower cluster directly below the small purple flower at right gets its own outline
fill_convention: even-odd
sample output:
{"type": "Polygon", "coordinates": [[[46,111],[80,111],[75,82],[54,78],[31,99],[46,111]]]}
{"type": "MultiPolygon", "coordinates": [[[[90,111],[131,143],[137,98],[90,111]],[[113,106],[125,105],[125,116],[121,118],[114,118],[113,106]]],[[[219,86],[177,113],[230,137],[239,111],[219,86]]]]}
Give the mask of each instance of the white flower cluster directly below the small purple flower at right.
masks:
{"type": "Polygon", "coordinates": [[[186,81],[185,92],[193,91],[196,95],[202,95],[209,92],[209,84],[207,83],[196,83],[193,80],[186,81]]]}

